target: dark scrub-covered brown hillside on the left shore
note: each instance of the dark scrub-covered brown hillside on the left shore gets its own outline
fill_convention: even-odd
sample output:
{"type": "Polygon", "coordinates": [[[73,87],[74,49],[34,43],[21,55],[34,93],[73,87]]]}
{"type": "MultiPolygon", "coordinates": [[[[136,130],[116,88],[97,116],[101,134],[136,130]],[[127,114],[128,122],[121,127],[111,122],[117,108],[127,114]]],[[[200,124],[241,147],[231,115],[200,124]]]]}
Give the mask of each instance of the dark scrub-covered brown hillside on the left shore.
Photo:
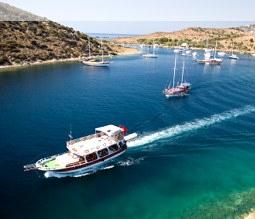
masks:
{"type": "MultiPolygon", "coordinates": [[[[52,21],[1,21],[0,66],[101,54],[101,42],[52,21]]],[[[115,54],[104,44],[104,54],[115,54]]]]}

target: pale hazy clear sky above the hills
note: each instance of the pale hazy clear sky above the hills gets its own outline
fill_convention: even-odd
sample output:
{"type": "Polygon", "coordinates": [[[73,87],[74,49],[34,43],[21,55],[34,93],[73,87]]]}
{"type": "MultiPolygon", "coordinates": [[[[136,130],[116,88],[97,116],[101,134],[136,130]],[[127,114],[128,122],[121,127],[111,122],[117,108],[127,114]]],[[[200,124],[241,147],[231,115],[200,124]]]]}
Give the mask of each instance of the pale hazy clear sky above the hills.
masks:
{"type": "Polygon", "coordinates": [[[189,24],[232,27],[255,23],[255,0],[0,1],[87,33],[143,34],[189,24]]]}

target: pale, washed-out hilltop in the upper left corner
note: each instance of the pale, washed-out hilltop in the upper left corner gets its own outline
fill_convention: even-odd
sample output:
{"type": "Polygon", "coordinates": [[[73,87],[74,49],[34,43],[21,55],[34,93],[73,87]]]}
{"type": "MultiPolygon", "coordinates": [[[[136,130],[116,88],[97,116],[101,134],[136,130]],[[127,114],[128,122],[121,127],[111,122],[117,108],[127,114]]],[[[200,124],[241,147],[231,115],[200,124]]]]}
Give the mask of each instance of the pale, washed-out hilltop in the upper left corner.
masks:
{"type": "Polygon", "coordinates": [[[0,2],[0,21],[46,21],[27,11],[0,2]]]}

